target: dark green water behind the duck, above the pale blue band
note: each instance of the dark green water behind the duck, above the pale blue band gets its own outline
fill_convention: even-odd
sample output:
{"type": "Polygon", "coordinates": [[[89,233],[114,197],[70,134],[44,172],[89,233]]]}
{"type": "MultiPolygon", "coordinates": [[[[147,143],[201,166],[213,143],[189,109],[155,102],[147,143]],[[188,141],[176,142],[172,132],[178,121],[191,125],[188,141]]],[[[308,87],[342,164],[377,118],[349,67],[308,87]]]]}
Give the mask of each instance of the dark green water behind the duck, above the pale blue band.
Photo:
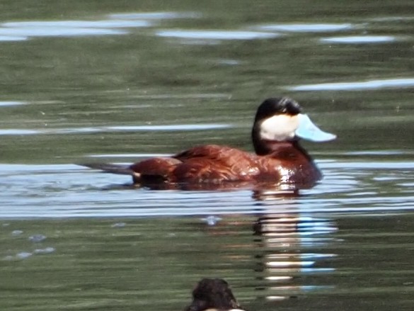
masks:
{"type": "MultiPolygon", "coordinates": [[[[263,98],[280,95],[297,99],[307,112],[314,113],[318,123],[336,132],[340,141],[335,149],[410,148],[410,135],[401,135],[413,130],[410,88],[286,89],[300,84],[410,78],[410,1],[381,6],[375,1],[347,1],[335,6],[330,1],[320,1],[317,6],[306,1],[259,1],[254,5],[226,1],[224,8],[220,1],[208,5],[192,1],[75,1],[63,7],[42,3],[33,6],[26,1],[25,10],[5,6],[4,21],[103,21],[111,19],[110,14],[142,11],[173,11],[190,17],[161,18],[151,27],[126,28],[127,35],[45,35],[1,43],[0,99],[28,103],[1,108],[1,128],[207,122],[237,126],[214,133],[6,136],[2,138],[2,162],[70,163],[85,154],[113,150],[176,152],[195,143],[221,142],[223,137],[227,144],[250,148],[248,132],[255,108],[263,98]],[[407,19],[372,21],[398,16],[407,19]],[[251,30],[275,23],[351,23],[354,28],[282,33],[272,40],[222,40],[218,44],[181,43],[155,35],[163,29],[251,30]],[[403,40],[349,45],[318,42],[343,35],[384,34],[403,40]]],[[[331,149],[333,145],[319,148],[331,149]]]]}

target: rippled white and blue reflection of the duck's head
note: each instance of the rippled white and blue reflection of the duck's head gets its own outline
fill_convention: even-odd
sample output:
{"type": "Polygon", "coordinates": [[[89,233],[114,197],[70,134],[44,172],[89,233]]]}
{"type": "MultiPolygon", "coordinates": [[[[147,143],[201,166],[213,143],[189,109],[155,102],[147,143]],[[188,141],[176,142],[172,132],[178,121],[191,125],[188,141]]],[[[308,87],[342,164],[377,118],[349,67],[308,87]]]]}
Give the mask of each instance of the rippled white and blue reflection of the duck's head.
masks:
{"type": "Polygon", "coordinates": [[[335,222],[294,213],[294,203],[268,208],[253,225],[258,249],[255,271],[263,280],[265,298],[283,300],[333,288],[325,282],[326,273],[335,271],[330,260],[336,254],[327,251],[338,243],[333,236],[338,230],[335,222]]]}

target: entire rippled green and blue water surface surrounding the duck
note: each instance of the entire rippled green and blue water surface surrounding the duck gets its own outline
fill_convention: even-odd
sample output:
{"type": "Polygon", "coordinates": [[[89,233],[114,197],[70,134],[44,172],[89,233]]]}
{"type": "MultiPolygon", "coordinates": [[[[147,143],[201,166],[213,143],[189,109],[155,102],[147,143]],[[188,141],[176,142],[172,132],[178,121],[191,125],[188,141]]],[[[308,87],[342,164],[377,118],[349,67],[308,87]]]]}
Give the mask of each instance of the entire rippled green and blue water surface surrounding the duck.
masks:
{"type": "Polygon", "coordinates": [[[412,310],[413,1],[0,9],[0,310],[183,310],[202,277],[226,278],[251,311],[412,310]],[[143,26],[119,26],[132,22],[143,26]],[[263,28],[280,24],[299,30],[263,28]],[[273,37],[231,39],[246,32],[273,37]],[[125,176],[71,166],[205,143],[252,150],[255,108],[282,95],[338,135],[305,144],[326,178],[293,207],[122,188],[125,176]],[[253,235],[268,213],[275,235],[253,235]]]}

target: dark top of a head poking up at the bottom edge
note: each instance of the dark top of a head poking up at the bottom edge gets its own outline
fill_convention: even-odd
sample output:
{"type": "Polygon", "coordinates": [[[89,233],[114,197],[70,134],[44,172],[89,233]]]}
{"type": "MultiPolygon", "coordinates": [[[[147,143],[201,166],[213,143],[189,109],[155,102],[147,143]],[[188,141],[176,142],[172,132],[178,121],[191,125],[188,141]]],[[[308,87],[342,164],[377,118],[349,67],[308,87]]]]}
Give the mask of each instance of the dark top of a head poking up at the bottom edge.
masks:
{"type": "Polygon", "coordinates": [[[185,311],[244,311],[222,278],[203,278],[192,290],[192,302],[185,311]]]}

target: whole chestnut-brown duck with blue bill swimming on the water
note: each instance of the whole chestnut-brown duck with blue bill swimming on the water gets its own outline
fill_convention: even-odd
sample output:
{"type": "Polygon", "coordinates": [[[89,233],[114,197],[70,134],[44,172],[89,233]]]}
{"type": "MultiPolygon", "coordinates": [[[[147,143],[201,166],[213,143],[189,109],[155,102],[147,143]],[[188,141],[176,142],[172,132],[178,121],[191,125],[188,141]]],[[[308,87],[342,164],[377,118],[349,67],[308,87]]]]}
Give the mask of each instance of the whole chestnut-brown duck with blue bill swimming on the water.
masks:
{"type": "Polygon", "coordinates": [[[251,130],[255,153],[226,145],[199,145],[171,157],[144,159],[131,165],[81,164],[132,176],[135,186],[215,189],[271,183],[311,188],[321,171],[300,140],[326,142],[336,135],[316,126],[289,97],[267,98],[258,106],[251,130]]]}

